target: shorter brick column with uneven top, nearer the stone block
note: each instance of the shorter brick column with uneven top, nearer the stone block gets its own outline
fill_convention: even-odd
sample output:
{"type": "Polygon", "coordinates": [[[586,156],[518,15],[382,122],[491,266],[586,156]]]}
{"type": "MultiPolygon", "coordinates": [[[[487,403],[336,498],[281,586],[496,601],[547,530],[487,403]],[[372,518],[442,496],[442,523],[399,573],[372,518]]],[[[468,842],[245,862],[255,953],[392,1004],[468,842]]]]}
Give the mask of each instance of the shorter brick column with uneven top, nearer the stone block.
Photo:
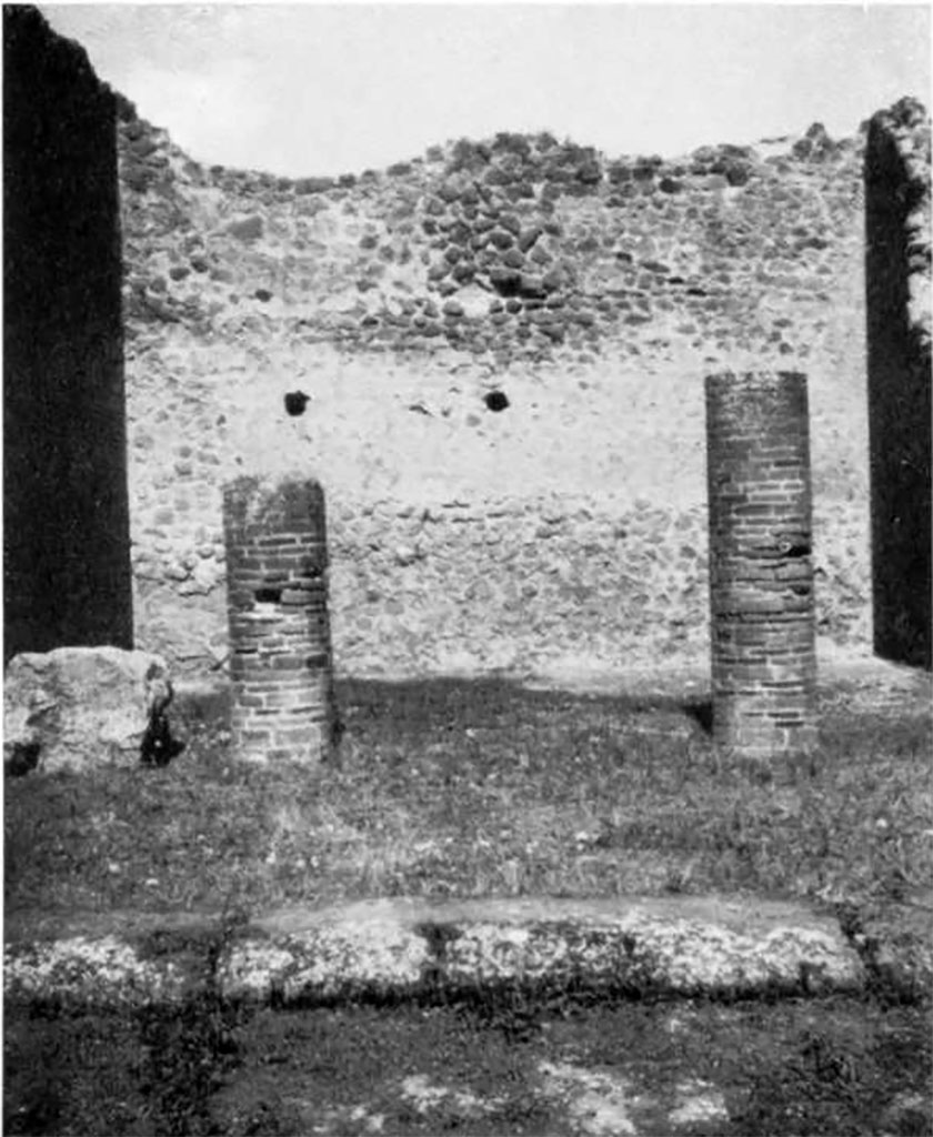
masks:
{"type": "Polygon", "coordinates": [[[324,492],[240,478],[223,490],[234,753],[316,764],[335,742],[324,492]]]}

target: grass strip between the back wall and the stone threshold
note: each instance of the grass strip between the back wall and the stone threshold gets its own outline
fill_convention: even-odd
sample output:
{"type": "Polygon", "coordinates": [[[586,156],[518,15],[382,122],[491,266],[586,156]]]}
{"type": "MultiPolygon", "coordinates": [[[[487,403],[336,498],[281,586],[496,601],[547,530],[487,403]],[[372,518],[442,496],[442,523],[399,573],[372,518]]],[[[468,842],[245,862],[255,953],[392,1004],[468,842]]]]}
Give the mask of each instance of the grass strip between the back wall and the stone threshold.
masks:
{"type": "Polygon", "coordinates": [[[702,704],[348,681],[339,767],[234,762],[182,702],[165,767],[7,781],[7,916],[414,895],[753,890],[909,901],[933,877],[931,721],[825,700],[812,770],[720,762],[702,704]]]}

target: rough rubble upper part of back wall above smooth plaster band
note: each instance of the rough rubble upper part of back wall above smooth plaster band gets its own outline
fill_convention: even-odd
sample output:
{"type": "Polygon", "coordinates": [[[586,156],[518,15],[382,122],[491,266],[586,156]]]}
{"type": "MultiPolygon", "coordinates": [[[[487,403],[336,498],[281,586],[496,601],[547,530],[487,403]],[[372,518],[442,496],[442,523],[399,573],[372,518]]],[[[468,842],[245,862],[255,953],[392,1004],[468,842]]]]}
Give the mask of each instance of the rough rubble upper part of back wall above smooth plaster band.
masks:
{"type": "Polygon", "coordinates": [[[858,240],[861,143],[819,124],[671,160],[503,133],[299,180],[205,168],[141,121],[121,135],[143,342],[182,324],[496,370],[606,348],[802,358],[858,240]]]}

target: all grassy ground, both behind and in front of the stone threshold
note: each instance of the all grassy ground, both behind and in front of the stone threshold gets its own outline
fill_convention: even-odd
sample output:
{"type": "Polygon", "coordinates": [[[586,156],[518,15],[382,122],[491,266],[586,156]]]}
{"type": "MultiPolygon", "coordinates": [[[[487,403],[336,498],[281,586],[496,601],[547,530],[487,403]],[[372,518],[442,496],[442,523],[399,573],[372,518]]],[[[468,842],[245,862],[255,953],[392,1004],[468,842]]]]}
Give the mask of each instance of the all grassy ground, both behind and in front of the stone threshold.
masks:
{"type": "MultiPolygon", "coordinates": [[[[316,773],[236,762],[218,695],[177,700],[187,747],[164,767],[8,778],[8,935],[402,894],[930,904],[925,688],[824,688],[812,763],[771,781],[717,758],[709,706],[677,695],[353,681],[338,698],[340,763],[316,773]]],[[[668,1134],[687,1087],[715,1098],[675,1127],[697,1137],[928,1132],[928,1002],[900,999],[283,1013],[208,985],[131,1012],[33,1001],[5,1007],[3,1131],[518,1137],[624,1107],[668,1134]]]]}

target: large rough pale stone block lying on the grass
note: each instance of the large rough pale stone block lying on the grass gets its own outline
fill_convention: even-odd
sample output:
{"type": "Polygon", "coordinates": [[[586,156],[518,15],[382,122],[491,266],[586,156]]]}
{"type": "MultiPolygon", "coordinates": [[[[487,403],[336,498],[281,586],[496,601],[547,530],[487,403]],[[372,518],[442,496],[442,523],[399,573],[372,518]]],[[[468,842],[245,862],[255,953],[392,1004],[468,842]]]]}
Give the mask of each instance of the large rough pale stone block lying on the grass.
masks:
{"type": "Polygon", "coordinates": [[[135,766],[150,722],[171,699],[165,662],[148,652],[24,652],[5,677],[5,767],[50,773],[135,766]]]}

